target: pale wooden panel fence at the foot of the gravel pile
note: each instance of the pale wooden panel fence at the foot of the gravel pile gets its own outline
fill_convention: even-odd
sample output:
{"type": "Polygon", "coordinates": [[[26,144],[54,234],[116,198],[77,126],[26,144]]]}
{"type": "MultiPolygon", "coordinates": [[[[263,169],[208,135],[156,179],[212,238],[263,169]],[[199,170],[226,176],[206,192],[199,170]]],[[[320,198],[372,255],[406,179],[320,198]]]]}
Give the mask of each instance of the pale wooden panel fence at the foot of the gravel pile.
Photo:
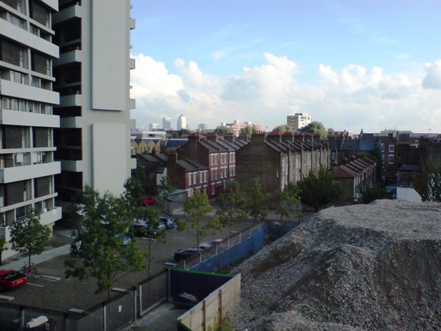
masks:
{"type": "Polygon", "coordinates": [[[228,310],[240,300],[240,274],[209,294],[185,314],[178,317],[186,330],[216,330],[228,310]]]}

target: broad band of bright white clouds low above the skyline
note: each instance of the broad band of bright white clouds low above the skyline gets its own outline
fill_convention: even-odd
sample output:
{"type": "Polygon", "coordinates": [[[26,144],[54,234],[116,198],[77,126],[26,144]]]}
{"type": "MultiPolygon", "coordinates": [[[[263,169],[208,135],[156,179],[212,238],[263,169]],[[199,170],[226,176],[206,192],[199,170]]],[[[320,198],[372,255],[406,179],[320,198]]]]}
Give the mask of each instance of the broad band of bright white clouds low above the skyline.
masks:
{"type": "Polygon", "coordinates": [[[183,113],[192,128],[198,123],[214,128],[237,119],[270,130],[284,123],[287,114],[309,112],[337,130],[364,128],[367,132],[397,125],[422,131],[430,122],[440,123],[438,128],[431,124],[431,129],[441,132],[439,92],[424,89],[441,88],[441,60],[427,65],[424,79],[388,74],[379,67],[350,64],[334,70],[320,64],[320,81],[306,84],[296,79],[296,62],[269,53],[264,54],[262,65],[244,67],[227,78],[206,74],[195,61],[176,59],[178,74],[171,74],[164,63],[151,57],[138,54],[135,59],[133,116],[139,126],[161,123],[164,116],[176,119],[183,113]]]}

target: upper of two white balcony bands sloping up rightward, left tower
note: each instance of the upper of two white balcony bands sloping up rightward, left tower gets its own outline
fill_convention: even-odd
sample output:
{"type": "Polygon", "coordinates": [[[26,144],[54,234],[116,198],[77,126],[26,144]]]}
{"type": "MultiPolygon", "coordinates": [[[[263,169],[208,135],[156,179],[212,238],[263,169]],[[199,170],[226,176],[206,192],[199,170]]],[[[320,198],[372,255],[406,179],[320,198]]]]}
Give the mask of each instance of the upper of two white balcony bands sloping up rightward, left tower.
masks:
{"type": "Polygon", "coordinates": [[[52,174],[59,174],[60,172],[61,163],[59,161],[3,168],[0,169],[0,183],[25,181],[26,179],[50,176],[52,174]]]}

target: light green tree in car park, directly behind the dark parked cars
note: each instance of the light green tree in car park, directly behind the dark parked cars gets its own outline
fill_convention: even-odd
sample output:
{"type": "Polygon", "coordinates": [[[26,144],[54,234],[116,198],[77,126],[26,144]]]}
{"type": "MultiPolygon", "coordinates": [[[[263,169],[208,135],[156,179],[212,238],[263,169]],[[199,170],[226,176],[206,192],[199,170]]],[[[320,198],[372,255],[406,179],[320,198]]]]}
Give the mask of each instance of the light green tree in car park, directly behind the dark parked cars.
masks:
{"type": "Polygon", "coordinates": [[[196,230],[196,247],[199,247],[199,240],[205,236],[207,230],[222,229],[222,224],[217,217],[212,217],[207,223],[203,223],[204,218],[212,210],[207,194],[200,190],[195,190],[193,196],[188,197],[184,202],[186,218],[184,222],[178,222],[178,230],[185,230],[188,225],[196,230]]]}

